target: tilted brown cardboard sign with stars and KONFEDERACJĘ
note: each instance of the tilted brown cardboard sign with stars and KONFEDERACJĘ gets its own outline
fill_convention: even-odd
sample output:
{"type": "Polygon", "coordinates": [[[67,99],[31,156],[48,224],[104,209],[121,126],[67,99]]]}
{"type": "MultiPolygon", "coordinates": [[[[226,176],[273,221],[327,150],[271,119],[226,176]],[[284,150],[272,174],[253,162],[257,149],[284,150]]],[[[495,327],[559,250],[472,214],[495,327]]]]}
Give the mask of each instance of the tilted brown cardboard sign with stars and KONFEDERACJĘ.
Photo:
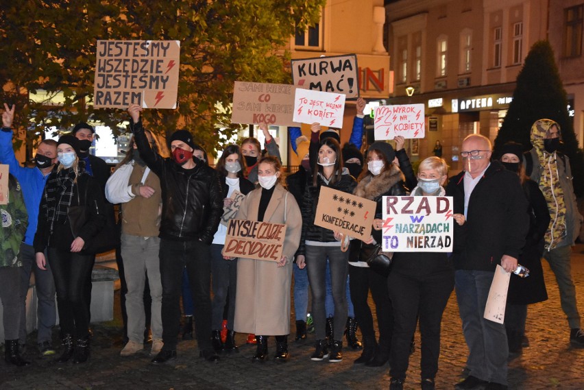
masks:
{"type": "Polygon", "coordinates": [[[321,186],[314,223],[354,239],[366,240],[371,236],[375,208],[372,200],[321,186]]]}

